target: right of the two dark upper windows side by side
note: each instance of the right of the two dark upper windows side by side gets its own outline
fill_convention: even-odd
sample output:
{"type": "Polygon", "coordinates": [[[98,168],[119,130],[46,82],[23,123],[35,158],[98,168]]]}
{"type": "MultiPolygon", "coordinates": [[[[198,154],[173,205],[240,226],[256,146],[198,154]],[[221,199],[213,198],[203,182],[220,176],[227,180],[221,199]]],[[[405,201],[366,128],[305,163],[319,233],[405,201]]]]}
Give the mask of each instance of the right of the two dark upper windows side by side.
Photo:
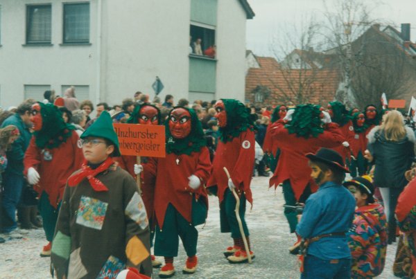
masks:
{"type": "Polygon", "coordinates": [[[89,3],[64,4],[63,43],[89,43],[89,3]]]}

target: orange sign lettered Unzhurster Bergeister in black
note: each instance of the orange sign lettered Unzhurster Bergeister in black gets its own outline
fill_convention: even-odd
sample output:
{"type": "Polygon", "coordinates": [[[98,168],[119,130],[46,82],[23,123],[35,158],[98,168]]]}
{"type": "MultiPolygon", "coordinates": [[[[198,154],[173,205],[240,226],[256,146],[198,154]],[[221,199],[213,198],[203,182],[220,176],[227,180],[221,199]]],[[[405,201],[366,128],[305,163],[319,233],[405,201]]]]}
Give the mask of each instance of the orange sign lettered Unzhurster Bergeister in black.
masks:
{"type": "Polygon", "coordinates": [[[165,157],[164,125],[113,123],[122,155],[165,157]]]}

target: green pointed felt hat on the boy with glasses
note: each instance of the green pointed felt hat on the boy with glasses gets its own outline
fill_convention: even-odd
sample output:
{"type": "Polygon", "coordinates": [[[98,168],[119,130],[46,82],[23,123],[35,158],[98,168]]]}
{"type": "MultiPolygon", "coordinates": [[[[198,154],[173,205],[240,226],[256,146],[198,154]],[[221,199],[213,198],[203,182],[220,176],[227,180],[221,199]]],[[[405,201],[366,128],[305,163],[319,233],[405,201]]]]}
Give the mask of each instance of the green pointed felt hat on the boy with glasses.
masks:
{"type": "Polygon", "coordinates": [[[117,138],[117,134],[112,125],[111,116],[107,111],[101,112],[100,117],[98,117],[97,120],[83,132],[80,138],[87,138],[88,136],[105,138],[108,141],[111,141],[114,144],[112,156],[121,156],[119,150],[119,138],[117,138]]]}

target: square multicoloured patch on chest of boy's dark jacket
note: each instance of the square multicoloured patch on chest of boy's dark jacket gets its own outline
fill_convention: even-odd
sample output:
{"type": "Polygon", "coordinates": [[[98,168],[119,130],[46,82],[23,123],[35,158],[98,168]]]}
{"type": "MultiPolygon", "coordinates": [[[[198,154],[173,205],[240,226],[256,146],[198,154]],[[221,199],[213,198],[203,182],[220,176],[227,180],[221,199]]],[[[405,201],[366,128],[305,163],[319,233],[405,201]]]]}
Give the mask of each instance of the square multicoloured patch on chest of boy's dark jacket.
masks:
{"type": "Polygon", "coordinates": [[[76,224],[101,230],[103,228],[107,207],[108,204],[104,201],[82,196],[80,206],[78,207],[76,224]]]}

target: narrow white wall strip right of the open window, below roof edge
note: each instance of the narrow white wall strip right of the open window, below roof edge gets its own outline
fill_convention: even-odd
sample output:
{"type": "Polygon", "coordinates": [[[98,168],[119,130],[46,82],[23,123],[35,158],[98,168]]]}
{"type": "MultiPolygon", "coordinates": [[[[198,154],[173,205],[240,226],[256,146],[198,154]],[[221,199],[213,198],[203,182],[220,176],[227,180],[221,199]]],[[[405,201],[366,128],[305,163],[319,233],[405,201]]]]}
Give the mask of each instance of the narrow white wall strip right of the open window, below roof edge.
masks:
{"type": "Polygon", "coordinates": [[[247,14],[239,1],[218,1],[216,98],[244,101],[245,22],[247,14]]]}

